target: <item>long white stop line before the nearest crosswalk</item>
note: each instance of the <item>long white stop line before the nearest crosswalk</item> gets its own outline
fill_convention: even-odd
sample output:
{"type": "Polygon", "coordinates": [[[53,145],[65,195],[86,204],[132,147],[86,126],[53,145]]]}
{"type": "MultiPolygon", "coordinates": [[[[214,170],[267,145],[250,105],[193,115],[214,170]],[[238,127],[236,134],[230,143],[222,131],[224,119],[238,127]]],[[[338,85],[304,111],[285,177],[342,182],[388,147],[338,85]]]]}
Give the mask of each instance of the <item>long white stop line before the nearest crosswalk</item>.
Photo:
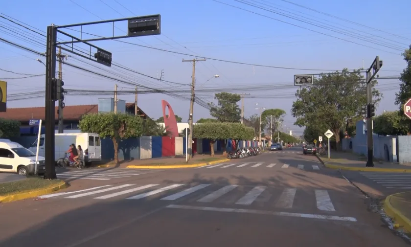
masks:
{"type": "Polygon", "coordinates": [[[263,215],[274,215],[274,216],[309,218],[309,219],[318,219],[318,220],[357,222],[357,219],[354,217],[340,217],[340,216],[320,215],[320,214],[298,214],[298,213],[288,213],[288,212],[273,212],[273,211],[255,210],[255,209],[240,209],[240,208],[225,208],[225,207],[199,207],[199,206],[175,205],[175,204],[168,205],[166,206],[166,208],[193,209],[193,210],[227,212],[227,213],[251,213],[251,214],[263,214],[263,215]]]}

